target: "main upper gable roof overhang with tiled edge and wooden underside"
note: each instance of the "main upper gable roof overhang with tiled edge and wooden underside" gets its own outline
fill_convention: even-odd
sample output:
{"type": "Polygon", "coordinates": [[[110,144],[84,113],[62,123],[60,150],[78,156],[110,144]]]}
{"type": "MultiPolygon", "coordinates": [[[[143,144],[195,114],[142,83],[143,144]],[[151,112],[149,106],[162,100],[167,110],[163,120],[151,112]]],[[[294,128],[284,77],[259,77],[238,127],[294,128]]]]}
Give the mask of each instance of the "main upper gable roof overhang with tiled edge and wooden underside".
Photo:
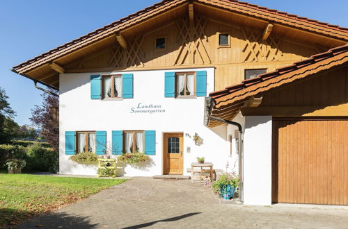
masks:
{"type": "Polygon", "coordinates": [[[166,23],[175,21],[183,14],[189,15],[190,4],[194,5],[195,14],[207,14],[209,17],[214,17],[212,12],[216,11],[215,15],[220,19],[228,17],[236,20],[242,26],[255,28],[265,28],[271,23],[272,33],[292,36],[296,34],[293,31],[298,31],[300,35],[297,37],[307,37],[308,41],[317,41],[317,44],[323,46],[334,47],[348,42],[348,28],[317,22],[245,2],[235,0],[164,0],[23,62],[13,67],[13,71],[58,89],[59,74],[64,72],[65,65],[116,44],[120,40],[120,33],[126,38],[132,38],[132,35],[149,29],[153,20],[166,23]],[[306,35],[302,33],[306,33],[306,35]]]}

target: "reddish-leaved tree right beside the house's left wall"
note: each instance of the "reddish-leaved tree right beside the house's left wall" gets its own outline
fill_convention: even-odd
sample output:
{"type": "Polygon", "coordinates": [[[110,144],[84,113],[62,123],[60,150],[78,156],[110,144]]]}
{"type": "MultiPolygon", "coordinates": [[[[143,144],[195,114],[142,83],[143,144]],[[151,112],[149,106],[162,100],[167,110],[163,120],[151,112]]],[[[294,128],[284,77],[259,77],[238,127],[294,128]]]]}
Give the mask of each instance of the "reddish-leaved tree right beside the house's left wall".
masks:
{"type": "MultiPolygon", "coordinates": [[[[51,92],[58,94],[56,90],[49,89],[51,92]]],[[[34,126],[41,129],[40,135],[46,139],[52,148],[58,153],[59,147],[59,128],[56,128],[50,124],[49,107],[58,106],[59,99],[49,93],[43,93],[42,104],[35,105],[35,108],[31,110],[30,121],[34,126]]]]}

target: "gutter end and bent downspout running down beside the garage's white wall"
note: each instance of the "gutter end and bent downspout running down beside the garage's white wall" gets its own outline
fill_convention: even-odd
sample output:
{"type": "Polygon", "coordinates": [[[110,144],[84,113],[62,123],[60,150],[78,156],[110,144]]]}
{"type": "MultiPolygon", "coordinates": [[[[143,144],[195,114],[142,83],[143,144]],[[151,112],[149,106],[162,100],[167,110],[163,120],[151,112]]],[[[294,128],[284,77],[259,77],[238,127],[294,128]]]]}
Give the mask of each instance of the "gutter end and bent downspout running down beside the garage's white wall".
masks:
{"type": "Polygon", "coordinates": [[[214,101],[212,100],[212,97],[206,97],[205,98],[205,126],[207,126],[209,119],[212,120],[216,120],[216,121],[221,121],[223,123],[226,124],[230,124],[232,126],[237,126],[238,131],[239,131],[239,135],[240,135],[240,141],[238,144],[238,161],[239,161],[239,201],[243,203],[244,201],[244,168],[243,168],[243,154],[244,154],[244,133],[243,133],[243,128],[242,125],[237,123],[236,121],[230,121],[230,120],[226,120],[226,119],[221,119],[219,117],[213,117],[210,116],[210,114],[212,113],[212,103],[214,103],[214,101]]]}

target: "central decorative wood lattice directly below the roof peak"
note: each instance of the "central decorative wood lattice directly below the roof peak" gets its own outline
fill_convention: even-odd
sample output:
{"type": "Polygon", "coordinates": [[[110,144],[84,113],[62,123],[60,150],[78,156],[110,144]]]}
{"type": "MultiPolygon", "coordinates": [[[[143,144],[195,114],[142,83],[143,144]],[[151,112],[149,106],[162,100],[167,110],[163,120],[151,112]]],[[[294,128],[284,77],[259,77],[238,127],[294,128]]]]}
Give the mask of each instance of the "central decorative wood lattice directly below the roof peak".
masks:
{"type": "Polygon", "coordinates": [[[185,62],[188,64],[211,63],[202,40],[203,38],[206,42],[208,41],[207,35],[205,35],[207,19],[195,17],[193,24],[190,24],[189,17],[187,17],[176,24],[179,29],[177,42],[180,42],[181,46],[174,65],[183,65],[185,62]]]}

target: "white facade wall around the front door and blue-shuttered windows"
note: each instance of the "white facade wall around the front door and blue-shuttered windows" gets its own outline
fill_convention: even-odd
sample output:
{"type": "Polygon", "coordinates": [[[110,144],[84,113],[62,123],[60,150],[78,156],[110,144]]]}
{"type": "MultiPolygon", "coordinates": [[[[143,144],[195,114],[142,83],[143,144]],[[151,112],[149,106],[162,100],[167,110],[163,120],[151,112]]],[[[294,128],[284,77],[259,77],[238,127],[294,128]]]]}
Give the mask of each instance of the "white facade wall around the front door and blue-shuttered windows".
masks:
{"type": "MultiPolygon", "coordinates": [[[[60,76],[60,173],[95,175],[95,167],[84,166],[68,160],[65,155],[65,131],[106,130],[107,144],[111,148],[112,130],[156,130],[156,155],[150,156],[151,164],[140,167],[120,167],[122,176],[153,176],[162,174],[162,134],[184,133],[184,174],[191,162],[205,157],[213,162],[214,169],[226,170],[232,164],[229,157],[226,125],[207,128],[203,125],[204,97],[174,99],[164,97],[164,73],[166,71],[207,71],[207,93],[214,91],[214,68],[170,69],[157,71],[101,72],[93,74],[134,74],[134,99],[101,101],[90,99],[90,73],[61,74],[60,76]],[[163,113],[131,113],[131,109],[143,105],[161,105],[163,113]],[[201,146],[193,142],[193,135],[204,140],[201,146]],[[191,137],[187,136],[189,134],[191,137]],[[188,147],[190,153],[188,152],[188,147]]],[[[120,165],[120,164],[119,164],[120,165]]]]}

